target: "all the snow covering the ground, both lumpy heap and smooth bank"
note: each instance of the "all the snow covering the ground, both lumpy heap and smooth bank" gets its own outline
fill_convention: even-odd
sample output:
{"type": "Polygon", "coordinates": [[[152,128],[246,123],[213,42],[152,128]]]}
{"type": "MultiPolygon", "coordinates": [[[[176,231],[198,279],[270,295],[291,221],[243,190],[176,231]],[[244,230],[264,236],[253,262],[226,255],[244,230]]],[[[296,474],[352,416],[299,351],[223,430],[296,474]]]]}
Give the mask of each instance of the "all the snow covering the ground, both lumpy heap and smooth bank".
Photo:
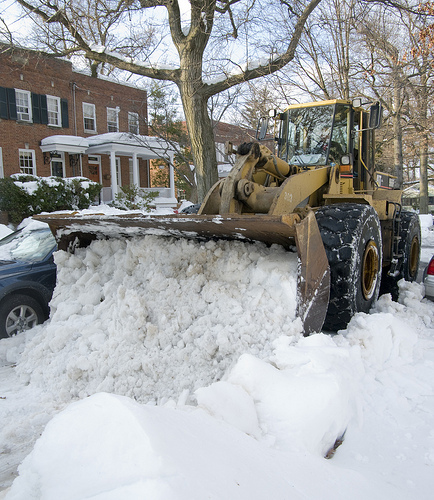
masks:
{"type": "Polygon", "coordinates": [[[145,238],[58,252],[51,319],[0,340],[0,498],[432,498],[421,284],[304,338],[294,256],[145,238]]]}

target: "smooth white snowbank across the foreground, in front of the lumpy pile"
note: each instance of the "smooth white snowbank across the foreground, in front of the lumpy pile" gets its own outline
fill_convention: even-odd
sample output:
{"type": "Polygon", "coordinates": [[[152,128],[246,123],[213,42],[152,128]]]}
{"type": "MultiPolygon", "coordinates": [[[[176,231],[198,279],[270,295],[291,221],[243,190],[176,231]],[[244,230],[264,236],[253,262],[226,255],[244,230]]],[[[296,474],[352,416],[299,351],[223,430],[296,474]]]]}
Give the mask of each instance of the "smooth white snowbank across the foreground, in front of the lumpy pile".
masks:
{"type": "Polygon", "coordinates": [[[400,303],[383,296],[340,335],[285,335],[268,359],[243,354],[196,390],[197,406],[107,393],[69,405],[6,499],[431,498],[434,304],[421,291],[403,283],[400,303]]]}

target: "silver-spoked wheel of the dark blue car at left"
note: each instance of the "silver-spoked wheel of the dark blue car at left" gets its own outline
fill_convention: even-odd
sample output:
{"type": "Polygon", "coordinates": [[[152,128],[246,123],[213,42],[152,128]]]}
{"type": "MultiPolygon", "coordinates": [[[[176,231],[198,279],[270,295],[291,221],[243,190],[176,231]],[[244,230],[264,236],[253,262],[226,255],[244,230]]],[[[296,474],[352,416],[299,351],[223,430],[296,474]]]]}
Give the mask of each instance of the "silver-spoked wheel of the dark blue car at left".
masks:
{"type": "Polygon", "coordinates": [[[12,337],[45,321],[42,307],[28,295],[11,295],[0,305],[0,337],[12,337]]]}

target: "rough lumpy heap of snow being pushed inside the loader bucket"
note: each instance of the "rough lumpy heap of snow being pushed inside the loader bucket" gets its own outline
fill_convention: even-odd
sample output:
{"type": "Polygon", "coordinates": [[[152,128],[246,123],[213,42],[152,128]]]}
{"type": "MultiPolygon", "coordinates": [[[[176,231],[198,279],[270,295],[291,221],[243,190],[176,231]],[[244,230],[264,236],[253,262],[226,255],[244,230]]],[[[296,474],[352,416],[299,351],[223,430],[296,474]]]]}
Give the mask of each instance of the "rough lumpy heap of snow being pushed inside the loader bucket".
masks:
{"type": "Polygon", "coordinates": [[[297,255],[279,246],[158,236],[57,252],[51,320],[17,370],[63,401],[113,392],[175,401],[247,352],[299,336],[297,255]]]}

